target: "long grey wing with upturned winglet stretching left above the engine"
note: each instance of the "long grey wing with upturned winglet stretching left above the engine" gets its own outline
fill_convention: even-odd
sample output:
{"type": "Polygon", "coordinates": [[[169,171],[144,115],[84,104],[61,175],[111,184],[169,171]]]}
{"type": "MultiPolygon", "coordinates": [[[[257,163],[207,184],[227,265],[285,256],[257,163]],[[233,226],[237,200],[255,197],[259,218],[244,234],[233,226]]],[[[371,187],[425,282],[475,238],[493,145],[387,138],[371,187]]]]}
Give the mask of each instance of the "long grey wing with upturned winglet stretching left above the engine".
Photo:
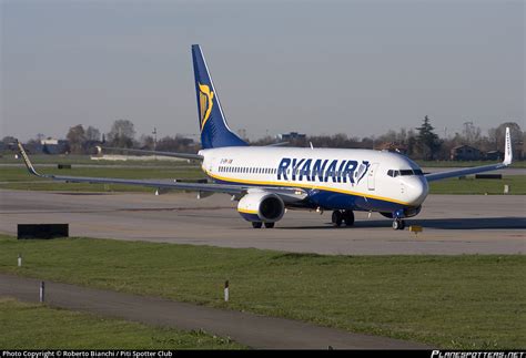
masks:
{"type": "Polygon", "coordinates": [[[90,183],[90,184],[125,184],[125,185],[139,185],[163,190],[183,190],[194,192],[209,192],[209,193],[224,193],[231,195],[244,195],[251,188],[259,188],[275,193],[280,195],[285,203],[302,201],[307,196],[307,193],[302,188],[294,187],[254,187],[250,185],[232,185],[232,184],[215,184],[215,183],[182,183],[170,180],[127,180],[127,178],[112,178],[112,177],[89,177],[89,176],[68,176],[68,175],[52,175],[52,174],[40,174],[33,167],[29,160],[26,150],[21,143],[18,143],[20,154],[22,155],[23,162],[28,167],[28,171],[36,176],[53,180],[58,182],[67,183],[90,183]]]}

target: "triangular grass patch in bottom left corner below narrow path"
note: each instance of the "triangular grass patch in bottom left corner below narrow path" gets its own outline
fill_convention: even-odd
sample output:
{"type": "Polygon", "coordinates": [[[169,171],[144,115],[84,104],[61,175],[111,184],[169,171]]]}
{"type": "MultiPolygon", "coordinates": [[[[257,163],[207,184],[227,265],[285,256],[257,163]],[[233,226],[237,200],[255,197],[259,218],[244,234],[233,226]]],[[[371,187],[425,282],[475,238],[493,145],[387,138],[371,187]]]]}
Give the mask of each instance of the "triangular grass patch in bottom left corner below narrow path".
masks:
{"type": "Polygon", "coordinates": [[[2,349],[237,349],[203,331],[150,327],[0,298],[2,349]]]}

